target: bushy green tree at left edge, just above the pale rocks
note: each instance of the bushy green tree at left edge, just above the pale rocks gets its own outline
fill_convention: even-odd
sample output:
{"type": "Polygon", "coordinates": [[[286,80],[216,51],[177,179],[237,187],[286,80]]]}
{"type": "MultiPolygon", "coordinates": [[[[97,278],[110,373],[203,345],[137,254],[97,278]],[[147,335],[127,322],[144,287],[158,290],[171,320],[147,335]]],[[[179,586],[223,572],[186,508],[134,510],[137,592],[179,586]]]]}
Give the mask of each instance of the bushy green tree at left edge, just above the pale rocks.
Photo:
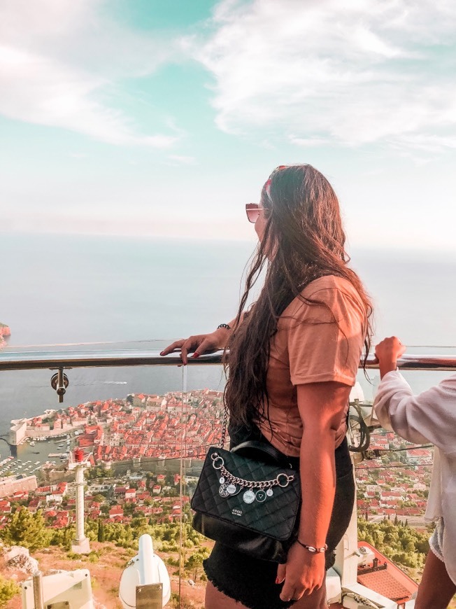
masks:
{"type": "Polygon", "coordinates": [[[10,545],[22,545],[34,552],[49,545],[52,533],[45,528],[41,510],[32,514],[25,507],[21,507],[13,514],[1,536],[10,545]]]}

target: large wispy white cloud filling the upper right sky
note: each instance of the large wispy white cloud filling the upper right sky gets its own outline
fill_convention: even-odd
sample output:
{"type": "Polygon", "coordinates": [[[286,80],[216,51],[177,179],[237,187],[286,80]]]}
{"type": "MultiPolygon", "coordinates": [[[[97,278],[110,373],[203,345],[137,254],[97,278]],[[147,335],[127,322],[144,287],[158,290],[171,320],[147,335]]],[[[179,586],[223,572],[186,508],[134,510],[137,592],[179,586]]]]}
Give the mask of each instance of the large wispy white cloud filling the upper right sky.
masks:
{"type": "Polygon", "coordinates": [[[434,149],[439,130],[456,141],[455,36],[450,0],[225,0],[183,46],[213,74],[221,130],[434,149]]]}

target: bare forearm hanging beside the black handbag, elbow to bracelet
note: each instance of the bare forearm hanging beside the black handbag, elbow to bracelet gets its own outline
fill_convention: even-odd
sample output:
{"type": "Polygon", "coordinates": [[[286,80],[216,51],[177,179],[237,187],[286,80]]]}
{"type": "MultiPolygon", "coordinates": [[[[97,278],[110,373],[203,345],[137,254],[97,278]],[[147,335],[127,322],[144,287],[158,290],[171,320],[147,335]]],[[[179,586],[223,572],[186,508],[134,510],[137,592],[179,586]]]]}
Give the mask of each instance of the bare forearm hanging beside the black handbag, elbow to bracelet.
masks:
{"type": "Polygon", "coordinates": [[[301,442],[302,507],[299,541],[323,547],[336,491],[335,434],[304,432],[301,442]]]}

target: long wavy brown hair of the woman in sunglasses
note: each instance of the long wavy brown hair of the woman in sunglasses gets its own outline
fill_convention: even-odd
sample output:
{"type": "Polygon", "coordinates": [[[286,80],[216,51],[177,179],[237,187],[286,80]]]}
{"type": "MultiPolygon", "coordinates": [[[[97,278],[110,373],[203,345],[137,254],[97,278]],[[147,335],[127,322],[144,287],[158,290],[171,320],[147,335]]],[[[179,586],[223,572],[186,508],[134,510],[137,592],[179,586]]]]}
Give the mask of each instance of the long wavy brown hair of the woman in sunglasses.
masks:
{"type": "Polygon", "coordinates": [[[271,338],[285,308],[295,297],[304,300],[301,291],[314,279],[336,275],[352,283],[365,310],[364,362],[371,346],[371,301],[347,266],[339,201],[325,176],[311,165],[280,167],[264,185],[261,204],[267,218],[264,237],[245,281],[238,326],[227,345],[224,399],[235,425],[251,425],[261,416],[269,419],[266,373],[271,338]],[[241,321],[250,290],[264,267],[262,291],[241,321]]]}

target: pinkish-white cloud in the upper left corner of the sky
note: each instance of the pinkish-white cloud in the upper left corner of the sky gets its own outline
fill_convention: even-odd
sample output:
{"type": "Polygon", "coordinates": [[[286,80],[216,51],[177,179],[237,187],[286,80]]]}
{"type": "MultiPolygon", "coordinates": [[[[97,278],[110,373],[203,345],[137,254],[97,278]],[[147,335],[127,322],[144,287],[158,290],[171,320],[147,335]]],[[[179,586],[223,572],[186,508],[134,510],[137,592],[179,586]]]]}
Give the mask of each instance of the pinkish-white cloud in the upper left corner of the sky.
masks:
{"type": "MultiPolygon", "coordinates": [[[[171,146],[107,103],[117,79],[154,71],[171,43],[121,29],[100,0],[6,0],[0,7],[0,113],[118,145],[171,146]]],[[[112,104],[113,102],[111,102],[112,104]]]]}

